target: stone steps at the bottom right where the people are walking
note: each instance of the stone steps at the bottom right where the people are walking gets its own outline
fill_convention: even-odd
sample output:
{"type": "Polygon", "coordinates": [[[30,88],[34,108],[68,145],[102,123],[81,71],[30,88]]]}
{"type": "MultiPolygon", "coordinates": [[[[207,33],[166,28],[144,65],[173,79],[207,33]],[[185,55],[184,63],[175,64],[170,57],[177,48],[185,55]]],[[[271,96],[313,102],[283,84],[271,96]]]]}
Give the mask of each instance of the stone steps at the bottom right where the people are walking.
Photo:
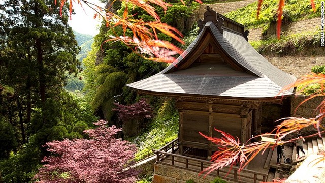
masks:
{"type": "MultiPolygon", "coordinates": [[[[323,148],[325,145],[325,137],[322,138],[317,138],[317,139],[312,139],[309,141],[305,141],[303,144],[303,149],[306,153],[307,157],[310,154],[317,153],[319,149],[323,148]]],[[[295,166],[297,164],[297,161],[303,161],[305,157],[303,157],[303,153],[300,151],[300,158],[297,160],[297,151],[296,151],[296,145],[294,146],[289,146],[285,145],[284,146],[284,155],[286,158],[290,158],[291,162],[295,166]]],[[[282,179],[282,178],[287,178],[289,170],[283,170],[283,169],[290,169],[292,165],[286,165],[284,164],[284,159],[282,157],[281,159],[281,165],[276,164],[276,159],[277,159],[277,153],[276,153],[276,148],[274,150],[270,149],[267,159],[264,164],[264,169],[269,169],[269,175],[267,178],[267,182],[273,182],[273,180],[277,179],[282,179]]]]}

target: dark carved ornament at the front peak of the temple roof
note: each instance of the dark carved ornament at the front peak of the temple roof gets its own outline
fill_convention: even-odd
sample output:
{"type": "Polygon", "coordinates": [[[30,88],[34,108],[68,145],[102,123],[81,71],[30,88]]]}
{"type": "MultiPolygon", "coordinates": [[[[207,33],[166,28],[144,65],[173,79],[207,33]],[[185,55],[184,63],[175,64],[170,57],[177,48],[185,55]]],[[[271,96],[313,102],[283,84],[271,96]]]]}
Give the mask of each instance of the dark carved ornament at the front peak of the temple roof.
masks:
{"type": "Polygon", "coordinates": [[[203,20],[202,19],[198,20],[198,26],[199,26],[198,34],[202,31],[204,25],[209,21],[212,21],[214,25],[219,29],[221,34],[223,34],[222,25],[224,19],[222,17],[218,18],[217,17],[218,14],[216,11],[212,10],[209,6],[207,6],[207,11],[204,13],[203,16],[204,16],[203,20]]]}

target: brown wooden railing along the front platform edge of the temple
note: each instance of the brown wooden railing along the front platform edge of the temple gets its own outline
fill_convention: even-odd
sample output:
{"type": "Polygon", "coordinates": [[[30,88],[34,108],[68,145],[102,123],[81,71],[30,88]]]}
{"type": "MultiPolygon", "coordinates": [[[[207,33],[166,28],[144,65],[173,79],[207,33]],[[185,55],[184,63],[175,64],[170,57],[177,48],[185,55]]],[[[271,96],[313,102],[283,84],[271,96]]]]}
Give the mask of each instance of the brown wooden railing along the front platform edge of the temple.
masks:
{"type": "MultiPolygon", "coordinates": [[[[153,150],[154,154],[156,154],[157,156],[156,163],[173,166],[176,168],[185,169],[193,172],[201,172],[212,164],[212,162],[210,161],[168,153],[167,149],[172,149],[172,151],[176,151],[178,149],[178,145],[176,144],[176,142],[178,142],[178,139],[175,139],[174,141],[165,145],[159,150],[153,150]],[[177,147],[177,149],[175,147],[177,147]]],[[[259,173],[247,169],[242,169],[239,175],[238,171],[238,167],[233,166],[230,170],[230,167],[227,166],[222,169],[214,170],[209,175],[221,176],[222,179],[241,183],[257,183],[261,181],[265,182],[268,176],[268,174],[259,173]]]]}

